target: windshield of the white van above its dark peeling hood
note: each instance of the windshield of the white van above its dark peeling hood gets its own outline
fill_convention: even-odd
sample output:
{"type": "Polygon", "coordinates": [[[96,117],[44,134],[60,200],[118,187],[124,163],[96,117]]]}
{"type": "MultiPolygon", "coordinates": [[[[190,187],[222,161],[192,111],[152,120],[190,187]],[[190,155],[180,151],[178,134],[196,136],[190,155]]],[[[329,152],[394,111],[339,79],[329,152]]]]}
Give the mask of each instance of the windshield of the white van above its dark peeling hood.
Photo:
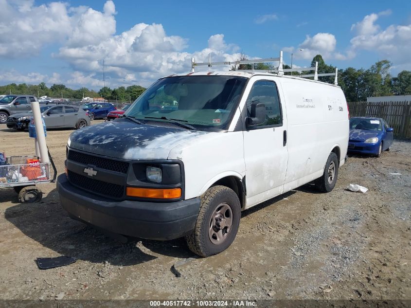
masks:
{"type": "Polygon", "coordinates": [[[196,129],[227,129],[246,82],[243,77],[215,75],[163,78],[137,98],[125,115],[177,120],[196,129]]]}

